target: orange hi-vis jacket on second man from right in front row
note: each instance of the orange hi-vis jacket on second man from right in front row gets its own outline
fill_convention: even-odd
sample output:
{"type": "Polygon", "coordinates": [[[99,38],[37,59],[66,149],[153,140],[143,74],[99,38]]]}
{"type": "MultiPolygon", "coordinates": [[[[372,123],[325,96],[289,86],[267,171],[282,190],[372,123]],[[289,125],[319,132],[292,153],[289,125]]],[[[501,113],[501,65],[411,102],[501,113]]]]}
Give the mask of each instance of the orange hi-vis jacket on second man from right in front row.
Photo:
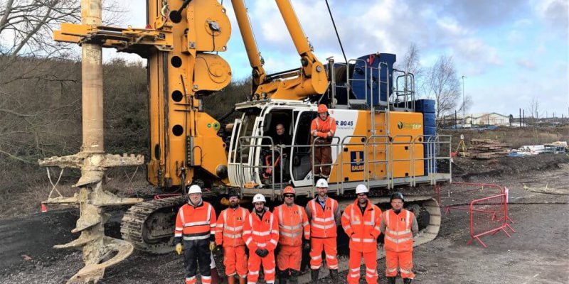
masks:
{"type": "Polygon", "coordinates": [[[361,252],[377,249],[378,236],[381,234],[380,223],[381,209],[369,200],[363,215],[358,200],[349,204],[342,214],[342,227],[350,237],[350,249],[361,252]]]}

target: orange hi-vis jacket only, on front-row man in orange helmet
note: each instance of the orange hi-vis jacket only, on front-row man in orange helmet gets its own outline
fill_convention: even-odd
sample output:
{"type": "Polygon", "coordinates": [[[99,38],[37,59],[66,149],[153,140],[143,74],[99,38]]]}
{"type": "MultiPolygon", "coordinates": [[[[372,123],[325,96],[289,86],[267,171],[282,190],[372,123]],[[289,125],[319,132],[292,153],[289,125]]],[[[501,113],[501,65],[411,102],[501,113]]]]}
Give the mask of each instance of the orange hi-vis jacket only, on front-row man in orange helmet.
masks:
{"type": "Polygon", "coordinates": [[[282,204],[272,211],[279,224],[279,244],[287,246],[302,245],[302,232],[304,239],[310,239],[310,224],[307,212],[297,204],[287,206],[282,204]]]}

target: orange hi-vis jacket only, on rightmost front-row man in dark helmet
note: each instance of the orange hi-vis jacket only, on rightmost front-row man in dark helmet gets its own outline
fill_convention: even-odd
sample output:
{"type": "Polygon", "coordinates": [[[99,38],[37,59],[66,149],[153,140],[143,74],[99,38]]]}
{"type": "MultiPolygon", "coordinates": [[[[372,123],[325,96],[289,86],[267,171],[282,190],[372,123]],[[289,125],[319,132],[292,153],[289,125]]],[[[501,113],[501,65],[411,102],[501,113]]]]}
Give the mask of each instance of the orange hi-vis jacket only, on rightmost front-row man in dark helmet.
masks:
{"type": "Polygon", "coordinates": [[[413,250],[413,219],[415,215],[407,209],[401,209],[395,214],[393,209],[383,212],[385,224],[385,251],[412,251],[413,250]]]}

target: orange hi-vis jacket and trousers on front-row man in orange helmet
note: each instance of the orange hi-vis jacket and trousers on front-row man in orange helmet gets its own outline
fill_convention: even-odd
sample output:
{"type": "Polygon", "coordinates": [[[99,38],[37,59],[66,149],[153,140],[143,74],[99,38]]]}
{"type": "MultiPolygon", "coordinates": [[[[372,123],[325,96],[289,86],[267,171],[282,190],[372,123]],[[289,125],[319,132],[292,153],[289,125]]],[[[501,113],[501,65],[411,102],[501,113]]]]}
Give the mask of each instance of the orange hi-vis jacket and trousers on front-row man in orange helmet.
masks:
{"type": "Polygon", "coordinates": [[[279,224],[280,251],[277,266],[280,271],[293,269],[300,271],[302,261],[302,235],[310,239],[310,224],[307,212],[297,204],[282,204],[272,211],[279,224]]]}

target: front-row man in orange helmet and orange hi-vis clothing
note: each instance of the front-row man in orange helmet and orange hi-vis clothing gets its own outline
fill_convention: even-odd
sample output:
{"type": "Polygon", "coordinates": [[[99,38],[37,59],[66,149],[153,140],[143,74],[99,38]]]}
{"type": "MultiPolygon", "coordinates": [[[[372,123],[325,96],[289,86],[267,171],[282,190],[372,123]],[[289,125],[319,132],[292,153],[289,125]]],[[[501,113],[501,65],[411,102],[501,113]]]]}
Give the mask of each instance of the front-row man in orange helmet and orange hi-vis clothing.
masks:
{"type": "Polygon", "coordinates": [[[304,208],[294,204],[296,195],[294,188],[289,185],[282,193],[285,202],[272,211],[279,224],[280,251],[277,255],[279,284],[287,283],[287,279],[290,280],[290,284],[298,284],[302,261],[302,236],[304,235],[304,245],[307,246],[310,239],[310,224],[304,208]]]}

